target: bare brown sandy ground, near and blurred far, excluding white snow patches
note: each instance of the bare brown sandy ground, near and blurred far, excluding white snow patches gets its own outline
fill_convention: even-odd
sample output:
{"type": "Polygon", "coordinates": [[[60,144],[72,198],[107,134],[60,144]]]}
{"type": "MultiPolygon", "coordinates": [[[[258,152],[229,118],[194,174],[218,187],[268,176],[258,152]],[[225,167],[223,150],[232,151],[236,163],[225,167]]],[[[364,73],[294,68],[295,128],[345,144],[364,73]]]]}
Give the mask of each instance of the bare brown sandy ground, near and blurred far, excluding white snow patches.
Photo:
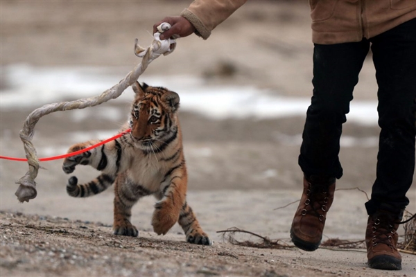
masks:
{"type": "MultiPolygon", "coordinates": [[[[138,60],[136,37],[146,46],[153,23],[177,15],[189,1],[1,1],[1,66],[118,66],[128,73],[138,60]],[[125,69],[125,70],[124,70],[125,69]]],[[[219,26],[205,42],[192,36],[178,41],[172,55],[153,62],[142,75],[195,75],[207,84],[254,85],[282,96],[309,96],[311,53],[306,1],[248,3],[219,26]],[[162,61],[163,59],[163,61],[162,61]]],[[[8,87],[1,71],[0,86],[8,87]]],[[[376,83],[371,59],[365,62],[355,98],[373,100],[376,83]]],[[[98,91],[99,93],[101,91],[98,91]]],[[[180,93],[180,91],[177,91],[180,93]]],[[[106,103],[124,111],[124,103],[106,103]]],[[[1,155],[23,157],[18,139],[26,116],[37,107],[10,110],[1,106],[1,155]]],[[[73,132],[114,129],[99,116],[82,124],[67,122],[76,111],[40,120],[34,139],[38,152],[51,145],[68,148],[73,132]],[[67,124],[68,123],[68,124],[67,124]]],[[[288,238],[302,175],[297,166],[304,118],[209,120],[180,115],[189,168],[189,204],[214,240],[211,247],[184,242],[178,226],[164,237],[152,232],[154,199],[133,210],[139,238],[111,234],[112,191],[90,199],[73,199],[64,188],[61,161],[42,163],[38,196],[29,203],[15,199],[24,163],[0,160],[0,276],[416,276],[414,255],[403,254],[402,271],[368,269],[364,249],[297,249],[240,247],[217,231],[236,226],[272,239],[288,238]]],[[[371,138],[378,127],[346,123],[345,136],[371,138]]],[[[105,138],[101,138],[105,139],[105,138]]],[[[364,193],[375,176],[375,146],[343,148],[345,175],[325,228],[325,238],[362,240],[367,216],[364,193]]],[[[95,177],[77,169],[80,179],[95,177]]],[[[416,211],[416,190],[408,193],[416,211]]],[[[401,230],[401,232],[403,232],[401,230]]],[[[242,239],[257,241],[243,236],[242,239]]]]}

